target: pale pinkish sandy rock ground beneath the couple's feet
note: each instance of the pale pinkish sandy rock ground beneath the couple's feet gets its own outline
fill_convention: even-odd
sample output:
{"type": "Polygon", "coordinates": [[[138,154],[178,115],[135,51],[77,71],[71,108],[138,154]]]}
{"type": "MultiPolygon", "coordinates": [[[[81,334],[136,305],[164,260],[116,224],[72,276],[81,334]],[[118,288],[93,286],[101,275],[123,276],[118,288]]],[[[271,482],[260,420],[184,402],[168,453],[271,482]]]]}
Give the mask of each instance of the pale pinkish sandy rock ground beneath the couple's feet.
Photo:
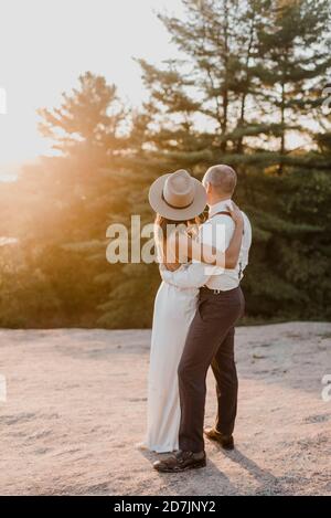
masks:
{"type": "MultiPolygon", "coordinates": [[[[0,330],[2,495],[331,495],[331,324],[237,329],[236,450],[158,474],[140,451],[150,331],[0,330]],[[329,391],[329,394],[331,391],[329,391]]],[[[206,424],[215,395],[209,374],[206,424]]]]}

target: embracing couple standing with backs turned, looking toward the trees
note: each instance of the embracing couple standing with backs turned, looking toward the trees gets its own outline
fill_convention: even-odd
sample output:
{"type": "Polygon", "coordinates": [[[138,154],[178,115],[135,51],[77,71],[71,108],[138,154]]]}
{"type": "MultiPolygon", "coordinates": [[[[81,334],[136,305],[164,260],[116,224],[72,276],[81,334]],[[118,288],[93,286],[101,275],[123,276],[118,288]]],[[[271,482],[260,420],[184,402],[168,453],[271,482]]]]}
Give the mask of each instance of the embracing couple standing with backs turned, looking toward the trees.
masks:
{"type": "Polygon", "coordinates": [[[232,201],[236,181],[234,169],[220,165],[202,183],[179,170],[159,177],[149,191],[163,282],[154,303],[145,446],[173,452],[153,464],[159,472],[205,466],[203,434],[234,447],[234,326],[244,313],[239,283],[252,242],[249,221],[232,201]],[[203,430],[210,366],[217,415],[214,427],[203,430]]]}

